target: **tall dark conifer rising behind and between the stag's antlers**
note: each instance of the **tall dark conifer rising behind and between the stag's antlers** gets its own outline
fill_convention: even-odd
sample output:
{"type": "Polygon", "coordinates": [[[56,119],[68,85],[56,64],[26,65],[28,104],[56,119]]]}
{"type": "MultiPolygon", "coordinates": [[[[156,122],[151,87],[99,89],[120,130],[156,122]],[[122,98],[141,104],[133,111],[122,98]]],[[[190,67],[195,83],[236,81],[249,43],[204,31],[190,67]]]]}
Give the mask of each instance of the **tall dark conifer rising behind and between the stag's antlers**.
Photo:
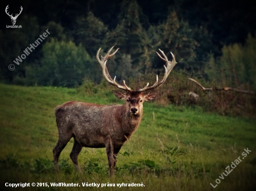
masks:
{"type": "MultiPolygon", "coordinates": [[[[116,45],[120,48],[121,54],[130,55],[132,68],[137,71],[145,71],[148,66],[148,36],[143,28],[140,19],[143,18],[146,25],[147,19],[143,15],[141,7],[135,0],[124,0],[121,6],[121,13],[118,16],[118,25],[108,33],[108,45],[116,45]]],[[[122,63],[122,58],[116,57],[118,63],[122,63]]],[[[119,79],[120,80],[120,79],[119,79]]]]}

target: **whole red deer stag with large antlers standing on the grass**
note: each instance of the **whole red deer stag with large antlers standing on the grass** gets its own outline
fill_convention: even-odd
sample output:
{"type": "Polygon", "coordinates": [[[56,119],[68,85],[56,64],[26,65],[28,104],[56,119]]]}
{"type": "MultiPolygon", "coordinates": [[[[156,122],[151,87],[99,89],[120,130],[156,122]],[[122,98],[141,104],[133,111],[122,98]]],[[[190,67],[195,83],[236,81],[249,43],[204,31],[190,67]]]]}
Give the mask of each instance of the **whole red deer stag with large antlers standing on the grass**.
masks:
{"type": "Polygon", "coordinates": [[[167,64],[167,66],[164,65],[165,75],[162,81],[158,82],[158,76],[156,76],[156,82],[153,86],[148,87],[147,84],[144,88],[133,91],[125,84],[125,81],[123,81],[123,86],[116,83],[115,78],[113,80],[108,73],[106,67],[107,59],[114,56],[118,51],[117,49],[113,54],[110,54],[113,48],[114,46],[105,57],[101,56],[101,60],[99,58],[101,49],[99,49],[96,58],[101,64],[103,76],[108,83],[126,91],[126,93],[122,93],[113,90],[115,96],[125,100],[125,103],[123,105],[97,105],[72,101],[56,108],[55,115],[59,130],[59,140],[53,149],[53,154],[54,166],[57,172],[59,172],[58,159],[61,151],[73,137],[74,146],[70,153],[70,158],[78,172],[81,172],[81,169],[78,166],[77,157],[83,146],[91,148],[106,147],[110,176],[114,175],[117,153],[141,123],[143,102],[153,100],[156,96],[155,93],[144,95],[143,92],[161,86],[176,64],[172,53],[173,60],[168,61],[163,51],[159,49],[164,58],[156,53],[167,64]]]}

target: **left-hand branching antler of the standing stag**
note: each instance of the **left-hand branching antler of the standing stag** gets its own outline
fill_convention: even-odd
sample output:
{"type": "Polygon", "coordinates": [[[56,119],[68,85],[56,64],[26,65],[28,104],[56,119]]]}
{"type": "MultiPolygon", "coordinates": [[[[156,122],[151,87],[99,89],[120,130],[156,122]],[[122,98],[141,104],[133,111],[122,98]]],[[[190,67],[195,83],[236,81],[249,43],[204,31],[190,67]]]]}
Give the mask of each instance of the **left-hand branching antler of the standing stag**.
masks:
{"type": "MultiPolygon", "coordinates": [[[[118,49],[116,49],[116,51],[113,53],[113,54],[110,54],[110,52],[112,51],[112,49],[114,48],[114,46],[108,51],[108,53],[105,55],[105,57],[102,57],[101,56],[101,60],[99,58],[99,53],[101,51],[101,48],[99,49],[99,51],[97,52],[97,55],[96,55],[96,58],[98,60],[98,62],[101,64],[101,67],[102,67],[102,73],[103,73],[103,76],[105,77],[105,79],[108,81],[108,83],[112,84],[113,86],[119,88],[119,89],[123,89],[123,90],[126,90],[126,91],[132,91],[132,89],[130,89],[126,84],[125,84],[125,81],[123,81],[123,84],[124,86],[118,84],[115,82],[115,78],[114,80],[111,78],[111,76],[109,75],[108,73],[108,69],[107,69],[107,60],[109,57],[113,57],[115,55],[115,53],[118,51],[118,49]],[[110,55],[109,55],[110,54],[110,55]]],[[[116,76],[115,76],[116,77],[116,76]]]]}

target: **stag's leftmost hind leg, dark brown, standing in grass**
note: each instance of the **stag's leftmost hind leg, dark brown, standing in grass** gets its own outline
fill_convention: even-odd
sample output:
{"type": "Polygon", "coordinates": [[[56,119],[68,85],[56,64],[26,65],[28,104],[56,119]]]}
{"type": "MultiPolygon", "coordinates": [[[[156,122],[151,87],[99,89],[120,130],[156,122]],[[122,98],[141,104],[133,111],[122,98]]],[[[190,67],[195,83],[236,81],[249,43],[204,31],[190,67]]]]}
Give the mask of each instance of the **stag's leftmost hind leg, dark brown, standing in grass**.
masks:
{"type": "MultiPolygon", "coordinates": [[[[68,135],[68,134],[67,134],[68,135]]],[[[65,146],[67,145],[68,141],[71,139],[72,135],[70,136],[59,136],[59,140],[57,142],[57,145],[54,147],[53,149],[53,154],[54,154],[54,167],[55,167],[55,171],[59,172],[59,157],[61,154],[61,151],[65,148],[65,146]]]]}

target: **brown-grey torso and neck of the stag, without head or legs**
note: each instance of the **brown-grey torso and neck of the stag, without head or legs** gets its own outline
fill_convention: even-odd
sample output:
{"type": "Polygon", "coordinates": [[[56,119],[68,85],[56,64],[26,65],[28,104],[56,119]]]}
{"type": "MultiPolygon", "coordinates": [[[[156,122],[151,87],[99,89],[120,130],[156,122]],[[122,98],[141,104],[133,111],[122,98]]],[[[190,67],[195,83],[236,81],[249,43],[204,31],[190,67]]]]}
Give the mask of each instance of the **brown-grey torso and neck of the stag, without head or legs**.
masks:
{"type": "Polygon", "coordinates": [[[142,113],[130,115],[125,106],[84,102],[66,102],[56,108],[55,115],[61,136],[74,137],[81,146],[91,148],[106,147],[106,139],[111,139],[114,147],[122,146],[142,119],[142,113]]]}

